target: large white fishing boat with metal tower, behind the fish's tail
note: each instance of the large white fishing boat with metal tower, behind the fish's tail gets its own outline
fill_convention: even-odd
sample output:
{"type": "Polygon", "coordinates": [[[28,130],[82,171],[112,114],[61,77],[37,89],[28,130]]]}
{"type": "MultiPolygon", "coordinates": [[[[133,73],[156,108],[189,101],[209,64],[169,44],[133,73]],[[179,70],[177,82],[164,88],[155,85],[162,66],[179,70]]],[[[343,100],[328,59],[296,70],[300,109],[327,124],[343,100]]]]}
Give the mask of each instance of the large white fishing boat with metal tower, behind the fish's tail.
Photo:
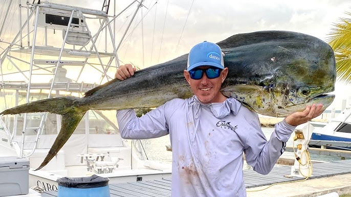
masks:
{"type": "MultiPolygon", "coordinates": [[[[16,1],[18,2],[18,1],[16,1]]],[[[116,18],[143,1],[134,1],[119,14],[102,9],[34,1],[19,10],[19,31],[11,41],[1,40],[1,111],[20,104],[57,96],[83,96],[84,92],[114,78],[119,66],[116,18]],[[26,16],[26,17],[24,17],[26,16]],[[5,46],[6,44],[6,46],[5,46]]],[[[11,13],[11,12],[10,12],[11,13]]],[[[12,15],[11,15],[12,16],[12,15]]],[[[12,18],[13,19],[13,18],[12,18]]],[[[3,19],[0,36],[11,20],[3,19]]],[[[128,27],[130,26],[130,23],[128,27]]],[[[3,34],[4,35],[4,34],[3,34]]],[[[30,161],[29,187],[57,190],[57,179],[96,174],[110,183],[171,177],[171,164],[145,159],[140,141],[119,135],[116,112],[88,111],[77,129],[45,167],[34,170],[48,154],[61,127],[61,116],[51,113],[6,115],[0,118],[0,157],[30,161]],[[112,118],[111,118],[112,117],[112,118]]]]}

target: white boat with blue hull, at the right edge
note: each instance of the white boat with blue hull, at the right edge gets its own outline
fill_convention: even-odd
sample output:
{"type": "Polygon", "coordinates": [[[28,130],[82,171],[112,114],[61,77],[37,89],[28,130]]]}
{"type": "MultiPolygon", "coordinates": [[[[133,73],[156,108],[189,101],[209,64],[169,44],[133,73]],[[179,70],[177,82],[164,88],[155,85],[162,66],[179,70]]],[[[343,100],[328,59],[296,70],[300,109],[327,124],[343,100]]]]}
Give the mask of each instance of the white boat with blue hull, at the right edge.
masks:
{"type": "Polygon", "coordinates": [[[313,130],[310,147],[351,151],[351,105],[313,130]]]}

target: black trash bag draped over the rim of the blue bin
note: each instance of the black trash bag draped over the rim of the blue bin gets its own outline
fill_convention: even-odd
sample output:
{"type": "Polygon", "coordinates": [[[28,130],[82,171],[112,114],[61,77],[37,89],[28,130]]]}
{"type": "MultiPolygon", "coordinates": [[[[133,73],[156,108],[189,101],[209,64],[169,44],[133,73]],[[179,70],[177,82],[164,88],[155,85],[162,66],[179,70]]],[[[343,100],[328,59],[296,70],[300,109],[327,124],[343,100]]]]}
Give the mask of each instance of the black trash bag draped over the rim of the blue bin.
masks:
{"type": "Polygon", "coordinates": [[[108,178],[99,177],[97,175],[92,175],[90,177],[62,177],[57,179],[56,182],[62,187],[73,187],[73,188],[95,188],[104,187],[108,185],[108,178]]]}

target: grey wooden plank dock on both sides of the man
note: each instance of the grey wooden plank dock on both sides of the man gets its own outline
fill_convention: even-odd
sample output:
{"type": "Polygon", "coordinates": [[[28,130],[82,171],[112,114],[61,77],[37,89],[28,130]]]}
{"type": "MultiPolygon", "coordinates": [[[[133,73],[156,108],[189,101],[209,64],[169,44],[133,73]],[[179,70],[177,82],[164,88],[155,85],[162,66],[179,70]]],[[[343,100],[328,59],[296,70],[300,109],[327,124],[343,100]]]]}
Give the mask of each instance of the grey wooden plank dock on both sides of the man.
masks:
{"type": "MultiPolygon", "coordinates": [[[[318,179],[342,174],[351,174],[351,160],[341,160],[325,163],[313,163],[312,177],[318,179]]],[[[303,180],[304,178],[290,177],[291,166],[275,166],[268,175],[260,175],[253,170],[244,171],[246,188],[271,185],[274,183],[303,180]]],[[[111,197],[115,196],[170,196],[171,180],[161,179],[153,181],[140,181],[130,183],[110,183],[111,197]]],[[[57,196],[57,191],[45,191],[43,197],[57,196]]]]}

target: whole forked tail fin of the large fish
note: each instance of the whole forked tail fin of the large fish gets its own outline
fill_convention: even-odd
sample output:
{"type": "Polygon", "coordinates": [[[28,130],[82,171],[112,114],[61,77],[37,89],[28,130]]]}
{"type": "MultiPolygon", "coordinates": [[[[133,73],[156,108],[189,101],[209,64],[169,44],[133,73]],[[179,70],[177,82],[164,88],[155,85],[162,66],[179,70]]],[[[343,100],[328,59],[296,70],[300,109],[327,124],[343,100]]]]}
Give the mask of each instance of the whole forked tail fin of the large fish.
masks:
{"type": "Polygon", "coordinates": [[[58,151],[61,149],[64,143],[73,134],[80,120],[84,116],[85,112],[88,110],[84,106],[79,106],[79,101],[79,97],[55,97],[52,99],[39,100],[24,105],[19,105],[0,113],[0,115],[5,115],[19,113],[50,112],[62,115],[61,130],[58,133],[54,144],[51,146],[48,155],[40,164],[40,166],[35,170],[41,169],[46,164],[48,164],[49,161],[58,153],[58,151]]]}

